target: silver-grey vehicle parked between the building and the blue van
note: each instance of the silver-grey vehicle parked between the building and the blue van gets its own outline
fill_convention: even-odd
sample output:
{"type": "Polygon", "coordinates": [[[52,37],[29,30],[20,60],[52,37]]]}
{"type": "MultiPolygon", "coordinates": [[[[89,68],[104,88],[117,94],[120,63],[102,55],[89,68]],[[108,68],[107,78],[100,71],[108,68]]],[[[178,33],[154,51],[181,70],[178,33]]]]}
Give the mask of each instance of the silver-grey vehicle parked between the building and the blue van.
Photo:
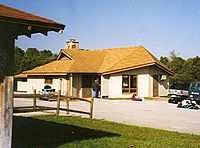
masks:
{"type": "Polygon", "coordinates": [[[181,102],[184,99],[188,98],[189,87],[190,87],[190,83],[173,84],[169,89],[168,95],[170,96],[170,99],[168,100],[168,102],[169,103],[178,103],[178,102],[181,102]]]}

